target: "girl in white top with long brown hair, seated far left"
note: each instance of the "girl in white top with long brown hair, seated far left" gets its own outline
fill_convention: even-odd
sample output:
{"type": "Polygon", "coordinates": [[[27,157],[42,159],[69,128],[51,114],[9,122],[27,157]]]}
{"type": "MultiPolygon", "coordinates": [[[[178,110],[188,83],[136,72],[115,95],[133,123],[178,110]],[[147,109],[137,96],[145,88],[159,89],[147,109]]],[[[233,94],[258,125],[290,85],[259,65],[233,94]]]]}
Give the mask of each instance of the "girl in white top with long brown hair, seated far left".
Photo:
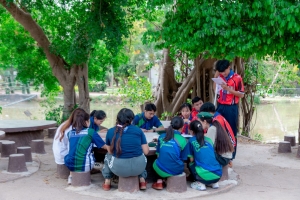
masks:
{"type": "MultiPolygon", "coordinates": [[[[56,164],[64,165],[65,164],[65,156],[69,152],[69,139],[67,137],[67,133],[72,130],[72,123],[74,121],[74,116],[78,113],[84,113],[85,111],[81,108],[76,108],[69,119],[67,119],[64,123],[62,123],[56,130],[54,140],[53,140],[53,155],[56,164]]],[[[71,184],[71,176],[68,178],[68,184],[71,184]]]]}

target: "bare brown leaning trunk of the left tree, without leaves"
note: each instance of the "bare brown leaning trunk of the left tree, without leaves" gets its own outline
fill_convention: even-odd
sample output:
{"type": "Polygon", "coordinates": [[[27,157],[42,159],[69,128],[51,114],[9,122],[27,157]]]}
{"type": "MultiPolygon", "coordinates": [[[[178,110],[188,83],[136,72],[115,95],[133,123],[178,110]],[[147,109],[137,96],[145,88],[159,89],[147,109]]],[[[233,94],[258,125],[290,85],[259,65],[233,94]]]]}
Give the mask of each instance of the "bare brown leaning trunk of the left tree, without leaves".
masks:
{"type": "Polygon", "coordinates": [[[75,107],[74,86],[76,81],[79,88],[79,106],[89,112],[87,65],[68,65],[62,57],[50,51],[50,41],[29,13],[26,13],[14,3],[8,4],[6,0],[0,0],[0,4],[30,33],[39,47],[43,49],[54,76],[64,89],[64,117],[69,116],[75,107]]]}

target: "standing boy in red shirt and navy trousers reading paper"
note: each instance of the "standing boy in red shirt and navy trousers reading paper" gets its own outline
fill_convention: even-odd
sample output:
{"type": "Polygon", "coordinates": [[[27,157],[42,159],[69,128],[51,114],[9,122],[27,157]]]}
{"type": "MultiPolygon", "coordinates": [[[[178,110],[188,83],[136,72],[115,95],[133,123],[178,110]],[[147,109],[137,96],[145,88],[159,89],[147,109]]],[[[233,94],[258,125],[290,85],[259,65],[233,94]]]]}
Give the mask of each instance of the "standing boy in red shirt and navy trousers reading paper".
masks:
{"type": "MultiPolygon", "coordinates": [[[[224,80],[221,85],[220,95],[218,98],[217,112],[219,112],[230,124],[234,136],[237,136],[238,125],[238,103],[240,98],[244,97],[244,84],[242,77],[230,69],[228,60],[219,60],[216,63],[215,78],[220,77],[224,80]]],[[[214,83],[214,87],[216,87],[214,83]]],[[[234,148],[233,157],[236,155],[234,148]]]]}

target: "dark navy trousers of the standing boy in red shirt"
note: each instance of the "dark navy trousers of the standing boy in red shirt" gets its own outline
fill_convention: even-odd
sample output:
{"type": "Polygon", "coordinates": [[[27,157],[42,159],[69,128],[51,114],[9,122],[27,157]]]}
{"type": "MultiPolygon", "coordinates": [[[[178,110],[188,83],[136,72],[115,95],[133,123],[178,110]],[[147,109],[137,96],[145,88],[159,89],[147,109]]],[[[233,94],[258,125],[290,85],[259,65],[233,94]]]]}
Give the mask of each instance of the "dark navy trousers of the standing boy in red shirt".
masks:
{"type": "Polygon", "coordinates": [[[239,108],[237,104],[234,105],[224,105],[219,104],[217,107],[217,112],[219,112],[230,124],[230,127],[233,131],[234,137],[236,139],[236,146],[234,147],[234,152],[232,153],[232,159],[235,158],[236,155],[236,147],[237,147],[237,132],[238,132],[238,118],[239,118],[239,108]]]}

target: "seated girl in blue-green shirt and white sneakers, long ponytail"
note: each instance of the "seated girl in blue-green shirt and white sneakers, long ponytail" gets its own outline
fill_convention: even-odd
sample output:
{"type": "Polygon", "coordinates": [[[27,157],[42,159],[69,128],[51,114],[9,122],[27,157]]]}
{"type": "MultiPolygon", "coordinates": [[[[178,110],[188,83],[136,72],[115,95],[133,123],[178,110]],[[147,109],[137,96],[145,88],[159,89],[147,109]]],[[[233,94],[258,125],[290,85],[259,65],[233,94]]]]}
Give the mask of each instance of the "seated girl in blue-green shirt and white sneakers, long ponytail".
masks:
{"type": "Polygon", "coordinates": [[[189,139],[188,149],[189,168],[196,180],[191,187],[196,190],[206,190],[205,185],[219,188],[218,181],[222,176],[222,167],[216,160],[213,141],[204,136],[204,131],[199,121],[190,124],[193,137],[189,139]]]}

